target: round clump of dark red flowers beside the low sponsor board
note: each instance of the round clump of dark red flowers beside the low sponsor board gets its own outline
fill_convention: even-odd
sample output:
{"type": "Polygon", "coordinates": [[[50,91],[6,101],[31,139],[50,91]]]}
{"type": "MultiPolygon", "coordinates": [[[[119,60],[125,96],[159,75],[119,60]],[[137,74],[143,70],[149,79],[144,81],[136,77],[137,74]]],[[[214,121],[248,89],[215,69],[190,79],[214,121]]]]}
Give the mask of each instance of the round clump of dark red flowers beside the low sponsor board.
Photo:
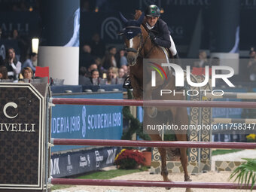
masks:
{"type": "Polygon", "coordinates": [[[142,165],[145,157],[142,152],[133,149],[123,149],[114,159],[118,169],[136,169],[142,165]]]}

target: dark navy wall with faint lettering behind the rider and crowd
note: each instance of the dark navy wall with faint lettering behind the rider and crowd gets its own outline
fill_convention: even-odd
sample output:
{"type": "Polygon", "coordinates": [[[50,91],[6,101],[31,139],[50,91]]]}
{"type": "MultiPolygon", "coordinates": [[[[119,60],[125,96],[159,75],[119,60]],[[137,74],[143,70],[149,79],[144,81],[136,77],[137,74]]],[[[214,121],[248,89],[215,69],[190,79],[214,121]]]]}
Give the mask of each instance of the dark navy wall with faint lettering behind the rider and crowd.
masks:
{"type": "MultiPolygon", "coordinates": [[[[199,47],[207,50],[210,40],[212,1],[214,0],[81,0],[81,44],[90,41],[94,32],[98,32],[107,45],[123,44],[121,38],[116,35],[116,31],[122,27],[118,11],[131,18],[136,9],[145,10],[147,5],[154,3],[163,8],[164,13],[161,17],[168,23],[178,50],[184,55],[187,53],[198,22],[200,22],[199,47]]],[[[20,36],[29,41],[32,36],[41,37],[40,2],[41,0],[0,0],[2,37],[11,36],[14,28],[18,29],[20,36]]],[[[57,11],[59,6],[53,8],[57,11]]],[[[255,46],[256,42],[254,25],[256,2],[240,0],[239,9],[239,49],[248,50],[251,46],[255,46]]],[[[53,17],[49,15],[49,19],[53,17]]],[[[67,24],[71,26],[72,21],[67,24]]]]}

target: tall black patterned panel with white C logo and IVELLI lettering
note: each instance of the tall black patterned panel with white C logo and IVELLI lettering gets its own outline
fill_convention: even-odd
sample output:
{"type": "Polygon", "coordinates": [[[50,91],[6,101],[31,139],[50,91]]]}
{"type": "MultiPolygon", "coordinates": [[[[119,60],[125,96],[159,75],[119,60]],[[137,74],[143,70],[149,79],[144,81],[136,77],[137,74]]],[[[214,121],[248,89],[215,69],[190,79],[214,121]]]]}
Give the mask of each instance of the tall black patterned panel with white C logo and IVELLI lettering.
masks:
{"type": "Polygon", "coordinates": [[[0,190],[42,189],[43,97],[30,84],[0,84],[0,190]]]}

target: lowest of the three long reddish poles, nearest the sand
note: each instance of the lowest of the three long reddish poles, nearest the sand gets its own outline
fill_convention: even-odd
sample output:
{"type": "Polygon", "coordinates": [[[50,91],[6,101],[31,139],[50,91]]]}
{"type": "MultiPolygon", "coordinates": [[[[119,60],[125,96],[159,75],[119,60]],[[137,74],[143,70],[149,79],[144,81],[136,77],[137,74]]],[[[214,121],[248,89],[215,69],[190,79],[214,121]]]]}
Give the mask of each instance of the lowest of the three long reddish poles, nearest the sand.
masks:
{"type": "MultiPolygon", "coordinates": [[[[79,178],[50,178],[50,184],[75,184],[96,186],[120,187],[179,187],[179,188],[212,188],[212,189],[250,189],[251,184],[242,186],[233,183],[207,183],[207,182],[168,182],[168,181],[134,181],[134,180],[108,180],[108,179],[79,179],[79,178]]],[[[256,186],[253,187],[256,189],[256,186]]]]}

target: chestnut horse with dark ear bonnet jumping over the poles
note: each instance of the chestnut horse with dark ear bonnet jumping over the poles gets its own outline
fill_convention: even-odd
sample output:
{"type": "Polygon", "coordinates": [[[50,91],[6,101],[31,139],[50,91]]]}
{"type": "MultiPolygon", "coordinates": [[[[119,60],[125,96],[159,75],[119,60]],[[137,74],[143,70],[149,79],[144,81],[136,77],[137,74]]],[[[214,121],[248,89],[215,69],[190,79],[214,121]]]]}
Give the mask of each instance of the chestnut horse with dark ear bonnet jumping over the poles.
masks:
{"type": "MultiPolygon", "coordinates": [[[[133,86],[133,97],[134,99],[142,99],[144,90],[151,89],[151,93],[154,93],[150,79],[144,77],[143,80],[143,59],[166,59],[166,55],[161,47],[158,47],[151,42],[151,38],[149,38],[148,31],[145,28],[145,18],[142,11],[136,11],[135,20],[126,20],[122,14],[120,14],[120,17],[126,26],[123,35],[125,35],[125,45],[127,50],[126,57],[130,65],[130,80],[133,86]]],[[[157,78],[157,84],[163,83],[163,86],[161,87],[163,90],[176,90],[175,76],[172,75],[172,72],[170,72],[168,67],[163,67],[163,69],[169,77],[169,81],[168,83],[163,83],[161,78],[157,78]]],[[[148,98],[149,96],[146,97],[148,98]]],[[[166,96],[162,96],[161,99],[184,100],[185,97],[182,94],[177,94],[175,96],[166,94],[166,96]]],[[[145,108],[144,121],[152,121],[151,115],[152,113],[154,114],[155,111],[158,111],[158,114],[160,115],[167,114],[166,120],[169,121],[169,124],[173,123],[178,125],[178,127],[182,124],[188,124],[187,109],[180,107],[145,108]]],[[[149,136],[153,141],[162,140],[159,133],[150,134],[149,136]]],[[[187,141],[187,131],[179,130],[175,133],[175,137],[178,141],[187,141]]],[[[164,181],[170,181],[166,168],[166,148],[158,148],[158,151],[160,152],[162,163],[161,175],[163,176],[164,181]]],[[[191,181],[187,173],[187,149],[180,148],[180,154],[181,165],[184,169],[184,181],[191,181]]]]}

